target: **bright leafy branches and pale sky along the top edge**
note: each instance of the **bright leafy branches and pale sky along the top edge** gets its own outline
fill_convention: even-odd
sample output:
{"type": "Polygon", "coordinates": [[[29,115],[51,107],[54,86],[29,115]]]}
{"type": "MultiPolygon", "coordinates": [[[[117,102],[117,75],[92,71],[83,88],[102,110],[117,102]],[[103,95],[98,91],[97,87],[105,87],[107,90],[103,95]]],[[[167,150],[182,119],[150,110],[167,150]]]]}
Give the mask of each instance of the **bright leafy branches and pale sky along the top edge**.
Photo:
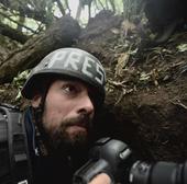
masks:
{"type": "Polygon", "coordinates": [[[131,13],[138,12],[139,4],[139,0],[0,0],[0,23],[22,34],[34,35],[65,14],[76,18],[81,24],[101,10],[123,12],[129,19],[131,13]]]}

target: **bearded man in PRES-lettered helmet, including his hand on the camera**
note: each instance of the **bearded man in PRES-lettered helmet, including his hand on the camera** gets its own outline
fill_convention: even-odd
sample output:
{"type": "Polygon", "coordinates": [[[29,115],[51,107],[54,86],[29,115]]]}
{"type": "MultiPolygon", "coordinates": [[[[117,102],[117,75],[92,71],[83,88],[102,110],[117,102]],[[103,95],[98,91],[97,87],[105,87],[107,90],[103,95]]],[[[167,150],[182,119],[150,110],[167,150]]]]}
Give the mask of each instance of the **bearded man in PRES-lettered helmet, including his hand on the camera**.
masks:
{"type": "MultiPolygon", "coordinates": [[[[22,95],[31,100],[24,122],[34,184],[72,183],[87,158],[105,83],[99,60],[78,48],[57,49],[33,69],[22,95]]],[[[105,174],[91,184],[102,180],[105,174]]]]}

